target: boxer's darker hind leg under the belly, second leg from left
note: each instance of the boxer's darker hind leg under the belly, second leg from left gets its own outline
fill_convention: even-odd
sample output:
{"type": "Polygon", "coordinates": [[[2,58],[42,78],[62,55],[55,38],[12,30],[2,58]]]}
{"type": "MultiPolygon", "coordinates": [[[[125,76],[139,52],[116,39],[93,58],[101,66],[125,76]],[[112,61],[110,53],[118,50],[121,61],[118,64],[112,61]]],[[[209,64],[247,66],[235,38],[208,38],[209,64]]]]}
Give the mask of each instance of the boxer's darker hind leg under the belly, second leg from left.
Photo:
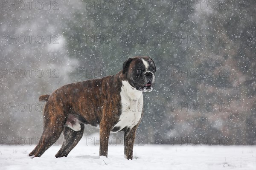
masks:
{"type": "Polygon", "coordinates": [[[78,144],[80,139],[83,137],[84,133],[84,124],[80,124],[81,130],[75,131],[72,130],[70,127],[65,126],[63,130],[64,140],[61,146],[61,149],[55,155],[56,158],[58,157],[66,157],[70,151],[78,144]]]}

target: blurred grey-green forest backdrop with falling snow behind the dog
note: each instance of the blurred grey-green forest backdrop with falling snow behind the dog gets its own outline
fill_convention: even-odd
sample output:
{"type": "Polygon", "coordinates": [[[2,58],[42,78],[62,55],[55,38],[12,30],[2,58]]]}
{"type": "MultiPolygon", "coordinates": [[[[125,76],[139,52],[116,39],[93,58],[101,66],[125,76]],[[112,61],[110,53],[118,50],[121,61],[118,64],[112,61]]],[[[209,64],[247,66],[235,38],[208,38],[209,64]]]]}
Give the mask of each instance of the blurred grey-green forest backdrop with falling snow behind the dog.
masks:
{"type": "Polygon", "coordinates": [[[2,144],[41,136],[41,94],[139,55],[157,66],[139,142],[256,144],[255,0],[0,3],[2,144]]]}

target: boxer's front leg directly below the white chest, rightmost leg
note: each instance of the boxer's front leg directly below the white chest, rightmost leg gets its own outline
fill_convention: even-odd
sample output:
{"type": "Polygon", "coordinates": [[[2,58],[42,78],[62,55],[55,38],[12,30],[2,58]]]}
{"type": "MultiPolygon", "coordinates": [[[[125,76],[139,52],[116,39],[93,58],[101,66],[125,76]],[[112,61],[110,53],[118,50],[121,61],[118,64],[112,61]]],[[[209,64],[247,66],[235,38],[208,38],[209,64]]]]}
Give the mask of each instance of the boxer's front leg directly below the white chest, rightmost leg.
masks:
{"type": "Polygon", "coordinates": [[[132,159],[133,157],[133,146],[137,127],[138,125],[134,126],[131,130],[125,130],[124,153],[126,159],[132,159]]]}

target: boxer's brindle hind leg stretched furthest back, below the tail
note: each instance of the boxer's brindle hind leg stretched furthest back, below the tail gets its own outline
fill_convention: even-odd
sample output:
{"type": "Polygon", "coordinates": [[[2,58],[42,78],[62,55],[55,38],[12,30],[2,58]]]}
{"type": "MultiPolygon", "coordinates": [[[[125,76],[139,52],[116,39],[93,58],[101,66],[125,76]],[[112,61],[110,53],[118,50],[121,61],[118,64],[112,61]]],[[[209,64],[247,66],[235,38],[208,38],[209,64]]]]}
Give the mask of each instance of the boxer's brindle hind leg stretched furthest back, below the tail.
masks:
{"type": "Polygon", "coordinates": [[[35,149],[29,153],[29,156],[42,156],[42,154],[58,140],[66,120],[67,116],[64,115],[64,111],[46,105],[44,109],[43,134],[35,149]]]}

